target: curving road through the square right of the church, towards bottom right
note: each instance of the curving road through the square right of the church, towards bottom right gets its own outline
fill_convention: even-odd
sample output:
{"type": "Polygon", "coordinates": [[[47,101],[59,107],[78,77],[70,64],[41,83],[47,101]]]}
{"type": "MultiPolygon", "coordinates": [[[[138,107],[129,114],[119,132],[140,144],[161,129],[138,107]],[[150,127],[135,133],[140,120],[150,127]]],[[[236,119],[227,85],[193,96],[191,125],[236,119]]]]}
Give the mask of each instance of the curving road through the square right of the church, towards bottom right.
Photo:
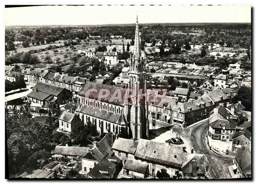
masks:
{"type": "Polygon", "coordinates": [[[177,132],[178,135],[185,139],[190,148],[194,149],[194,153],[203,153],[208,158],[210,165],[214,169],[218,178],[230,178],[228,171],[228,166],[232,165],[233,158],[218,155],[215,152],[211,151],[207,145],[207,133],[208,133],[208,121],[204,121],[198,125],[192,126],[190,128],[179,128],[176,126],[170,125],[169,127],[163,126],[162,122],[156,122],[157,135],[160,136],[164,131],[173,129],[174,132],[177,132]],[[162,128],[159,128],[162,127],[162,128]]]}

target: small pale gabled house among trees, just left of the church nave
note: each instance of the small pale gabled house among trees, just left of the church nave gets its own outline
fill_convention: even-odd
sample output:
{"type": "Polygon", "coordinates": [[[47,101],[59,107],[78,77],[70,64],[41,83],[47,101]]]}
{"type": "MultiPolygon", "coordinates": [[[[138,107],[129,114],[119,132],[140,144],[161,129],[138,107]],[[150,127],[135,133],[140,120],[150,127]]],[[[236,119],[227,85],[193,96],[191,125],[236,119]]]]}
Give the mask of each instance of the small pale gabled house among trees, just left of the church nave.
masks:
{"type": "Polygon", "coordinates": [[[63,110],[59,116],[59,128],[57,131],[63,133],[71,133],[71,129],[74,124],[77,122],[76,114],[63,110]]]}

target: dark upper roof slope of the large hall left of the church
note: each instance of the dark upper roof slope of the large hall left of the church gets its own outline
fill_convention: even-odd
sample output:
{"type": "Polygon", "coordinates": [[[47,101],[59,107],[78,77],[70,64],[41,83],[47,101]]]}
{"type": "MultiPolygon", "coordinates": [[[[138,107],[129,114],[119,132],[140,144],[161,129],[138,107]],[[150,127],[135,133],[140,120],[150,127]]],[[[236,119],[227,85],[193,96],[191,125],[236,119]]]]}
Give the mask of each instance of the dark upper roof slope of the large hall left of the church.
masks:
{"type": "Polygon", "coordinates": [[[32,89],[36,90],[36,88],[38,91],[44,92],[49,95],[53,95],[55,97],[58,96],[63,89],[65,89],[62,87],[57,87],[57,86],[53,86],[53,85],[49,85],[41,82],[38,82],[32,89]]]}

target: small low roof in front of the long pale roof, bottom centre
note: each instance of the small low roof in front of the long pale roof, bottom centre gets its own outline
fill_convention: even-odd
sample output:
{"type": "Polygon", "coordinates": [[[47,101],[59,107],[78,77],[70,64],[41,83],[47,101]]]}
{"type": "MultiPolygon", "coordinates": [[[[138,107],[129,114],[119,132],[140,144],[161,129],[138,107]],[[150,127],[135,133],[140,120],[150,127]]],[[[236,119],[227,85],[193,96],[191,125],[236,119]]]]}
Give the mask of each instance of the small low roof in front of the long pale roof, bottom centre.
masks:
{"type": "Polygon", "coordinates": [[[127,159],[123,165],[123,169],[135,171],[137,173],[145,174],[147,170],[147,164],[137,160],[127,159]]]}

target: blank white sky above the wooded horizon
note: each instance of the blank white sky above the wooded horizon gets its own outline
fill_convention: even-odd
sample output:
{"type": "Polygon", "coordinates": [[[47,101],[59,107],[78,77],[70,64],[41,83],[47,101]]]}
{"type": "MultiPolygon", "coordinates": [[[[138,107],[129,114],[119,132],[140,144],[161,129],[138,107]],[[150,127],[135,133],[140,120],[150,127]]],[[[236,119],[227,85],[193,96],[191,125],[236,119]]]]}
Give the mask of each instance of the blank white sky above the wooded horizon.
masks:
{"type": "Polygon", "coordinates": [[[38,6],[5,8],[5,26],[251,22],[250,5],[38,6]]]}

